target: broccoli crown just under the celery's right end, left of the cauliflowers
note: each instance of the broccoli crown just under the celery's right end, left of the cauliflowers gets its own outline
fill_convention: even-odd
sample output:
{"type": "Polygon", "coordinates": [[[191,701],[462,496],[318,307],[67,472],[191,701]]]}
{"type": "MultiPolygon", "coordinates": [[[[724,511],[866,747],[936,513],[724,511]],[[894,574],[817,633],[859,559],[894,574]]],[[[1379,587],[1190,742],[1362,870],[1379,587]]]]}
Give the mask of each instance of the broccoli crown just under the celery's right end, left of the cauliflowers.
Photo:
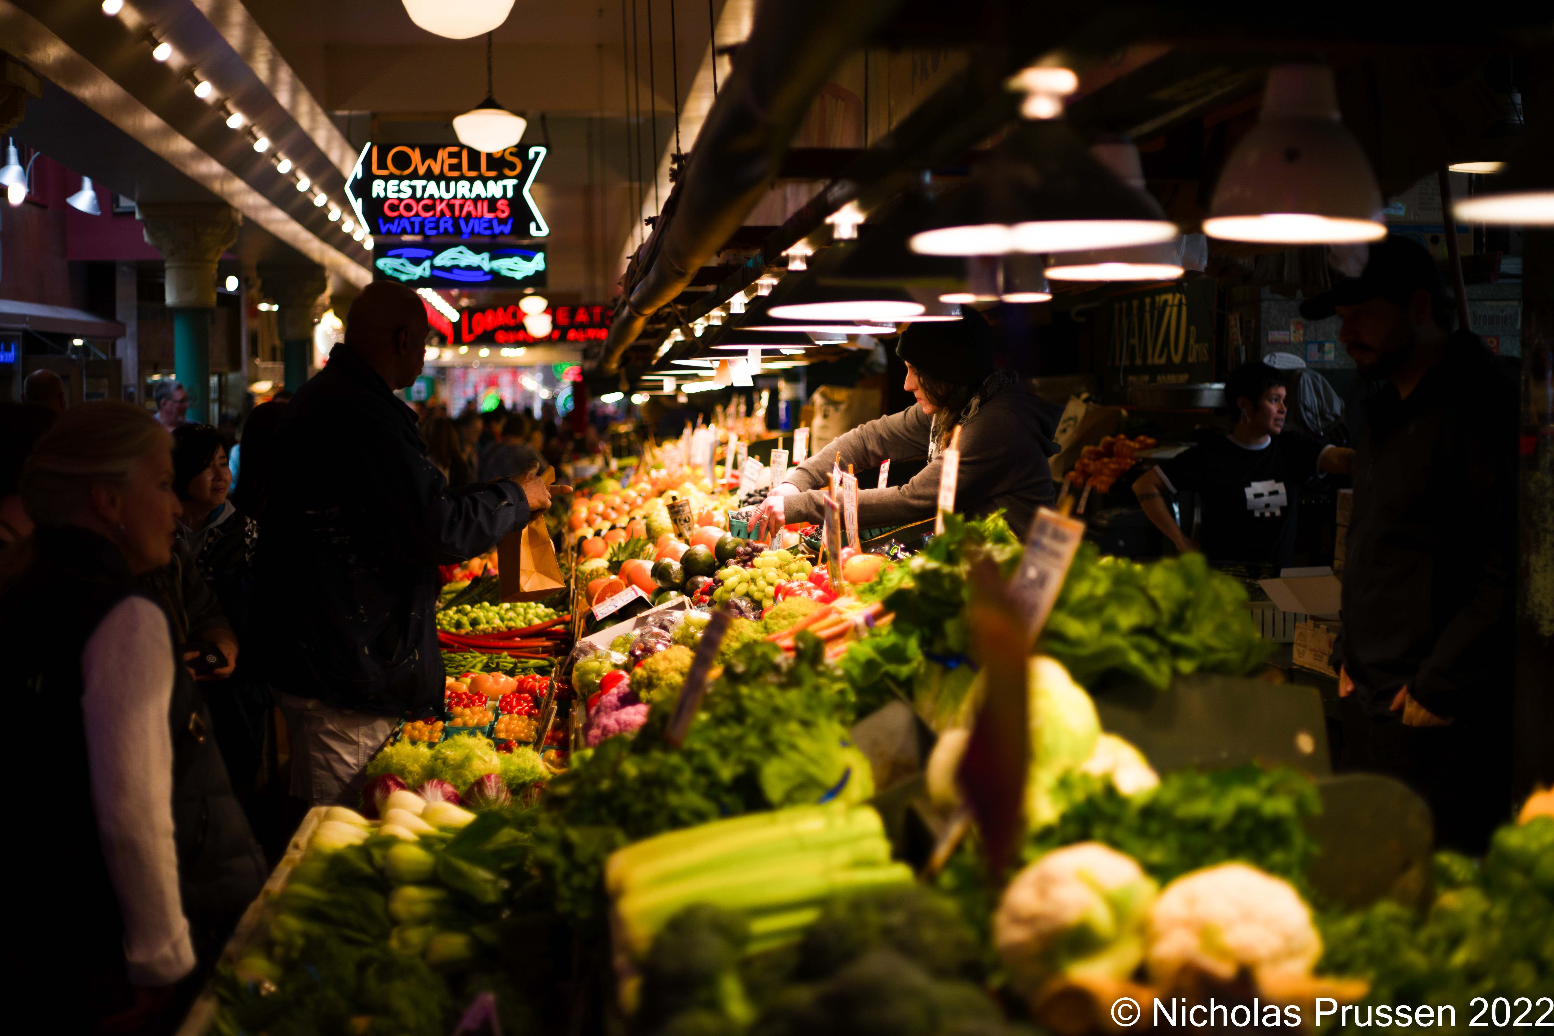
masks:
{"type": "Polygon", "coordinates": [[[982,977],[976,935],[960,910],[918,885],[834,898],[805,932],[794,972],[824,979],[876,949],[895,951],[940,979],[982,977]]]}

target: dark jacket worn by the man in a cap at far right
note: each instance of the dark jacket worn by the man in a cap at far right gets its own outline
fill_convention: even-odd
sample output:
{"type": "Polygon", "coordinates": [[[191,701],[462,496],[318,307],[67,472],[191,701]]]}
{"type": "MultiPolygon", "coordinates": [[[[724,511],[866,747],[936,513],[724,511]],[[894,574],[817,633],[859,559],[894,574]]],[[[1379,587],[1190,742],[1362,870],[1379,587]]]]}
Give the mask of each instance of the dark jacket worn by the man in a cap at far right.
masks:
{"type": "Polygon", "coordinates": [[[1364,404],[1335,665],[1375,718],[1397,690],[1469,718],[1509,694],[1517,385],[1472,334],[1400,398],[1364,404]]]}

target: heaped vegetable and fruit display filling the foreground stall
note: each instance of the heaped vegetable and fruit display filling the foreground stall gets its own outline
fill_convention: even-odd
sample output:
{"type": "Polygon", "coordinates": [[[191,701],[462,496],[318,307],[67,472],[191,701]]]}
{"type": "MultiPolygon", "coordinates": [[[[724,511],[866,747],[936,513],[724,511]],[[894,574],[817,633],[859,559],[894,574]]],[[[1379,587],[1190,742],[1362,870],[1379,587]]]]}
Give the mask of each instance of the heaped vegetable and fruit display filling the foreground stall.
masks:
{"type": "Polygon", "coordinates": [[[430,1036],[490,1003],[502,1031],[536,1034],[1013,1036],[1114,1031],[1122,996],[1145,1013],[1209,994],[1392,1010],[1551,996],[1554,801],[1531,800],[1481,864],[1436,854],[1423,910],[1340,907],[1308,878],[1308,775],[1156,770],[1102,728],[1092,694],[1119,682],[1152,693],[1262,662],[1239,586],[1190,556],[1082,548],[1027,662],[1018,859],[990,876],[971,825],[929,865],[925,831],[968,805],[957,772],[990,694],[971,565],[1010,576],[1016,537],[999,516],[946,516],[917,555],[838,559],[831,586],[802,547],[727,536],[730,500],[654,463],[569,505],[573,579],[688,601],[606,617],[553,655],[553,679],[510,655],[448,663],[446,727],[404,722],[361,814],[320,819],[218,974],[216,1031],[430,1036]],[[706,519],[690,542],[671,495],[706,519]],[[676,747],[720,607],[730,621],[676,747]],[[903,778],[876,786],[864,728],[855,742],[897,702],[932,730],[909,806],[876,797],[903,778]],[[449,736],[477,719],[490,736],[449,736]]]}

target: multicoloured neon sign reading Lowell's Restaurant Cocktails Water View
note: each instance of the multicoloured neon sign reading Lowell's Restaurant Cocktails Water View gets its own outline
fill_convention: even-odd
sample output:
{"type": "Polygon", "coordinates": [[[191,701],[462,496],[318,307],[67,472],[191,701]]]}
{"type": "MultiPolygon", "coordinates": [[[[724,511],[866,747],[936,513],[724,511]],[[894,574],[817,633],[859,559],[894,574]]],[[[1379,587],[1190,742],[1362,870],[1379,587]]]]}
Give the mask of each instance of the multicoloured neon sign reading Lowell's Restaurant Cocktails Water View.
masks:
{"type": "Polygon", "coordinates": [[[530,191],[542,144],[480,152],[458,144],[367,144],[345,179],[356,217],[379,238],[545,238],[530,191]]]}

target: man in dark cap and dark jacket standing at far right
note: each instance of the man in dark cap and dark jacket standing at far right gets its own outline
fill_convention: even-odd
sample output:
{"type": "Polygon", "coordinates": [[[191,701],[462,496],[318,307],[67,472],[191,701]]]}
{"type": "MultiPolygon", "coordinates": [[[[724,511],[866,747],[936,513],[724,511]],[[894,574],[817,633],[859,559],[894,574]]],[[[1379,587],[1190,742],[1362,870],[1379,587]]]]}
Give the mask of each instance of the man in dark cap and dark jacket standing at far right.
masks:
{"type": "Polygon", "coordinates": [[[1358,276],[1301,304],[1335,314],[1380,382],[1355,443],[1338,693],[1369,719],[1364,769],[1430,801],[1437,845],[1479,853],[1510,808],[1517,385],[1451,329],[1414,241],[1375,242],[1358,276]]]}

